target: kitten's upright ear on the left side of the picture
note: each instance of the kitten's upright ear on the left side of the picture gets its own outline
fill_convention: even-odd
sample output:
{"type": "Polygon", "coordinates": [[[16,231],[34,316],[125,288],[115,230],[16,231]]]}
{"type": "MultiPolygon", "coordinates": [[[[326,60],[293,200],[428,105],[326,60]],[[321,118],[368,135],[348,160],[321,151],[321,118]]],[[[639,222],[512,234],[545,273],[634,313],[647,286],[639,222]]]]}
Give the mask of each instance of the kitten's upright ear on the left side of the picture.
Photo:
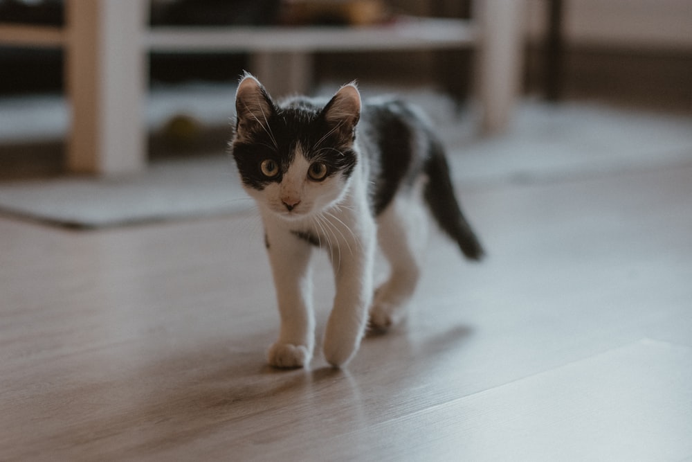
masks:
{"type": "Polygon", "coordinates": [[[235,112],[235,132],[238,139],[248,139],[257,132],[268,130],[274,103],[260,81],[248,73],[240,81],[235,93],[235,112]]]}

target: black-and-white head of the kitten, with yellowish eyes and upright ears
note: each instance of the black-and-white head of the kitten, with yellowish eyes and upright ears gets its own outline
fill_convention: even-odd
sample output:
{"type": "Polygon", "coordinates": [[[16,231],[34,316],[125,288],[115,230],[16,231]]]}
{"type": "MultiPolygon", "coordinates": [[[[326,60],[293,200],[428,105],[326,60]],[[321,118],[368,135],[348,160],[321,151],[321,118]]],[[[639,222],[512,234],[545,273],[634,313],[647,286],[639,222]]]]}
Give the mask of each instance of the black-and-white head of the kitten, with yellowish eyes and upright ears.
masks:
{"type": "Polygon", "coordinates": [[[343,198],[358,161],[361,96],[355,85],[341,87],[324,106],[308,98],[277,104],[245,75],[235,108],[231,150],[244,188],[260,207],[295,220],[343,198]]]}

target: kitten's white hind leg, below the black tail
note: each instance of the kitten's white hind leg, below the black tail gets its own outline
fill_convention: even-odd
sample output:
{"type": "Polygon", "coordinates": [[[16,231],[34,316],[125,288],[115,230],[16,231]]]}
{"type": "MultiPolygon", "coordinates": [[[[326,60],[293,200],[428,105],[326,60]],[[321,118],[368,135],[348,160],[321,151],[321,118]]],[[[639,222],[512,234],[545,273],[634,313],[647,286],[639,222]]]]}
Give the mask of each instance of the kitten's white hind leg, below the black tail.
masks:
{"type": "Polygon", "coordinates": [[[384,331],[406,316],[406,305],[418,283],[428,239],[428,216],[413,197],[398,197],[378,217],[380,249],[390,264],[389,278],[374,294],[370,328],[384,331]]]}

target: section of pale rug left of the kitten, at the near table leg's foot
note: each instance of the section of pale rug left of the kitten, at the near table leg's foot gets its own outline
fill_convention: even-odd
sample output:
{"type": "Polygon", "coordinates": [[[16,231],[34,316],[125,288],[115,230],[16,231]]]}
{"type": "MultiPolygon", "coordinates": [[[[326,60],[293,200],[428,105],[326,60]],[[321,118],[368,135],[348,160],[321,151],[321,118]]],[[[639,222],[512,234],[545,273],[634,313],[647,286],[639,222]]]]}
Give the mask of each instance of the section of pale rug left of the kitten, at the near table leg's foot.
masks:
{"type": "Polygon", "coordinates": [[[83,229],[219,215],[250,205],[233,159],[219,154],[152,163],[131,177],[0,184],[0,211],[83,229]]]}

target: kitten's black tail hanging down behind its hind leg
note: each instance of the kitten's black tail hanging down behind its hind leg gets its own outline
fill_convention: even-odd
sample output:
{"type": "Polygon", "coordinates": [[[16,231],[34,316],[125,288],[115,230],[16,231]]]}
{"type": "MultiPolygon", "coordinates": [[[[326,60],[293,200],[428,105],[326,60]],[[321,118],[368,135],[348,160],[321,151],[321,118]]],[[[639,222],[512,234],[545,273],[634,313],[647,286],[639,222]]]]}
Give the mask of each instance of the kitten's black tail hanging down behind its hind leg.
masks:
{"type": "Polygon", "coordinates": [[[435,139],[430,141],[430,157],[426,159],[424,170],[428,175],[424,197],[435,221],[442,231],[457,242],[466,258],[481,260],[484,256],[483,247],[459,207],[444,149],[435,139]]]}

